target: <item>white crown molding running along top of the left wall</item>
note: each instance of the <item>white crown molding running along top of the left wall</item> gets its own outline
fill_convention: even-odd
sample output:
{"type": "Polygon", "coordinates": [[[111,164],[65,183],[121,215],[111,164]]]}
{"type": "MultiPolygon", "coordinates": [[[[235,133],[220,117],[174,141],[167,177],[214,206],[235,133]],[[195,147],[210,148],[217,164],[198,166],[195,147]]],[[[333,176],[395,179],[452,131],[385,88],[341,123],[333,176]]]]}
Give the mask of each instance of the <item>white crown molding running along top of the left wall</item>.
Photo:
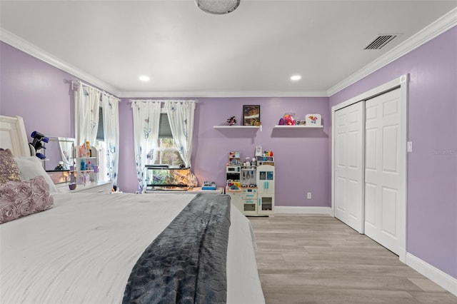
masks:
{"type": "MultiPolygon", "coordinates": [[[[80,69],[77,69],[70,64],[67,64],[65,61],[57,58],[56,56],[47,53],[46,51],[39,49],[39,47],[31,44],[29,41],[22,39],[19,36],[11,33],[10,31],[6,31],[6,29],[2,29],[0,27],[0,41],[4,41],[4,43],[14,46],[16,49],[23,51],[30,56],[33,56],[41,61],[46,62],[46,64],[50,64],[51,66],[56,67],[57,69],[61,69],[62,71],[66,71],[67,73],[79,78],[83,81],[91,83],[93,86],[97,86],[104,91],[107,91],[115,96],[119,96],[119,89],[114,88],[114,86],[110,86],[108,83],[101,81],[99,78],[91,76],[80,69]]],[[[67,79],[72,80],[72,79],[67,79]]]]}

